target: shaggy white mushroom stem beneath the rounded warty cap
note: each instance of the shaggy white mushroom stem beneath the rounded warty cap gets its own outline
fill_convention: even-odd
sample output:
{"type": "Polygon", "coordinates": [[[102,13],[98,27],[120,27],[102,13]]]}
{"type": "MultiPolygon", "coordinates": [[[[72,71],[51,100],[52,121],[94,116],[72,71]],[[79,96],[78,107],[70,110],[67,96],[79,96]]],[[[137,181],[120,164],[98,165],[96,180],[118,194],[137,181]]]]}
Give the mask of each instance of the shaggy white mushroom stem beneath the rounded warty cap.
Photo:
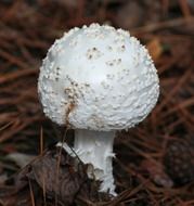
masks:
{"type": "Polygon", "coordinates": [[[85,164],[89,164],[89,178],[102,181],[100,191],[116,195],[112,167],[114,138],[115,131],[77,129],[74,150],[85,164]]]}

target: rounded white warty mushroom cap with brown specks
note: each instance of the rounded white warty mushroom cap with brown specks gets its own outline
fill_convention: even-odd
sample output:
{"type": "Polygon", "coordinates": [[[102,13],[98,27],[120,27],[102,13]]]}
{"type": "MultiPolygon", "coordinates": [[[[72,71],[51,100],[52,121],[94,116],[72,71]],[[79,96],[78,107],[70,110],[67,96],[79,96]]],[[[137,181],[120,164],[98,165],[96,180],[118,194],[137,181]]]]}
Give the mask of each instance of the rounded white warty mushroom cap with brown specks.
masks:
{"type": "Polygon", "coordinates": [[[49,49],[38,93],[46,116],[56,124],[109,131],[142,121],[157,102],[159,86],[139,40],[91,24],[70,29],[49,49]]]}

